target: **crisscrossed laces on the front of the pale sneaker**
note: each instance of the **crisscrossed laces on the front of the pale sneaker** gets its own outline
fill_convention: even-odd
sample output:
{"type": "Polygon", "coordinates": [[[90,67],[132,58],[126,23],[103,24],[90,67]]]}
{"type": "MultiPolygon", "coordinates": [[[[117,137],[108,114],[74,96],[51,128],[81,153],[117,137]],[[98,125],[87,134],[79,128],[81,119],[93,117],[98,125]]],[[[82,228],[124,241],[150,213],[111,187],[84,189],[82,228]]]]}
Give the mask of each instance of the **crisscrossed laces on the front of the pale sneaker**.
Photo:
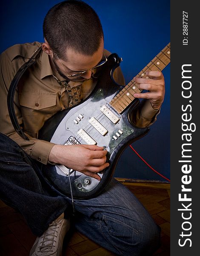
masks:
{"type": "Polygon", "coordinates": [[[53,252],[52,248],[55,247],[54,241],[55,238],[57,238],[57,229],[60,227],[60,222],[52,222],[49,225],[49,229],[43,234],[41,238],[43,238],[43,241],[40,242],[40,246],[38,247],[38,253],[39,252],[53,252]],[[51,237],[51,238],[50,238],[51,237]]]}

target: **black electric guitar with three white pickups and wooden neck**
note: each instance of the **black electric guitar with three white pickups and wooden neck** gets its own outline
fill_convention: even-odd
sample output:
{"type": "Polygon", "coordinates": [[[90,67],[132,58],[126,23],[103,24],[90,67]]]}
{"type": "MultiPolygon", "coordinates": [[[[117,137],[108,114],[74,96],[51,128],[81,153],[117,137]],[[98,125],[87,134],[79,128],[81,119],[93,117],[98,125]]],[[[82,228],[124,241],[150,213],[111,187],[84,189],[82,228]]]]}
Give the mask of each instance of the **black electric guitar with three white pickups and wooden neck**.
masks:
{"type": "MultiPolygon", "coordinates": [[[[137,128],[131,123],[130,113],[139,102],[133,94],[142,92],[138,84],[131,80],[121,87],[113,80],[113,72],[120,61],[117,54],[111,54],[89,97],[72,108],[56,113],[39,132],[40,139],[52,143],[100,145],[108,151],[106,156],[110,166],[98,173],[100,181],[60,164],[42,166],[48,182],[69,197],[71,191],[75,199],[88,199],[102,192],[111,180],[123,150],[149,131],[149,128],[137,128]]],[[[169,62],[170,44],[137,77],[149,78],[146,71],[161,71],[169,62]]]]}

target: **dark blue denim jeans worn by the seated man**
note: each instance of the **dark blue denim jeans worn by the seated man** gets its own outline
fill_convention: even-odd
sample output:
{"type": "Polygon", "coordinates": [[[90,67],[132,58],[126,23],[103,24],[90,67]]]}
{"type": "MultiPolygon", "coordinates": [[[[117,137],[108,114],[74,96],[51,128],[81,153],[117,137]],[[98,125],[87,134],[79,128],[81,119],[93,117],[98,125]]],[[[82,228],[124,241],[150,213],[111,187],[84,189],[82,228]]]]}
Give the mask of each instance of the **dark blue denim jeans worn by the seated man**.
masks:
{"type": "MultiPolygon", "coordinates": [[[[0,198],[24,216],[37,236],[61,213],[68,218],[71,212],[71,198],[49,186],[39,163],[3,134],[0,198]]],[[[116,255],[152,255],[160,246],[160,227],[133,193],[114,178],[96,198],[74,203],[77,230],[116,255]]]]}

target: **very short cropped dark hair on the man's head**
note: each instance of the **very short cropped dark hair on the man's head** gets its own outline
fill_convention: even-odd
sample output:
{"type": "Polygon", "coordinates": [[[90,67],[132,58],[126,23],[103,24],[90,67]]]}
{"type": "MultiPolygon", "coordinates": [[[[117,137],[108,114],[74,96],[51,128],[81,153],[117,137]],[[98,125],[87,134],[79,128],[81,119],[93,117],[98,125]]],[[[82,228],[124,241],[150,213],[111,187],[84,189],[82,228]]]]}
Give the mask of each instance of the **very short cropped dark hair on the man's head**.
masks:
{"type": "Polygon", "coordinates": [[[97,52],[103,29],[91,6],[83,1],[68,0],[49,10],[43,22],[43,35],[51,49],[65,60],[66,48],[83,55],[97,52]]]}

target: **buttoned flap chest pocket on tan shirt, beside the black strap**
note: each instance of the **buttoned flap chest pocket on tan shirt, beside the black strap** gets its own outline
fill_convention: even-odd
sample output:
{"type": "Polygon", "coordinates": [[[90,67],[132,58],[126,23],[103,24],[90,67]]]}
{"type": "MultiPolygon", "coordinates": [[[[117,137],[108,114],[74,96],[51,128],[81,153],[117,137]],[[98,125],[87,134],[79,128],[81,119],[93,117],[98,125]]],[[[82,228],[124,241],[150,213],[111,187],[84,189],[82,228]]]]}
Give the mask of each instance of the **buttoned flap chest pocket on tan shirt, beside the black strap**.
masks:
{"type": "Polygon", "coordinates": [[[56,97],[56,93],[19,93],[19,104],[25,132],[37,134],[43,127],[44,122],[53,116],[56,112],[56,97]]]}

